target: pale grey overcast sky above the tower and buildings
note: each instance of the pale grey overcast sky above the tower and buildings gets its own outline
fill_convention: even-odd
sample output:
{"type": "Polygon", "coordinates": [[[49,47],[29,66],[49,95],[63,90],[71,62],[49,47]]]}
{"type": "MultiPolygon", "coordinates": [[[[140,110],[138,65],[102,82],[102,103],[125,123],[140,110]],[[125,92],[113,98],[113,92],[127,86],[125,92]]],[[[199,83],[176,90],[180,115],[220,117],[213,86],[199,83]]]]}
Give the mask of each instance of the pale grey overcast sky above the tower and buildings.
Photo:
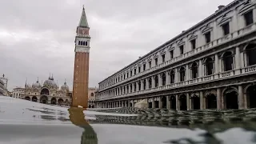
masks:
{"type": "Polygon", "coordinates": [[[90,81],[104,78],[213,14],[232,0],[1,0],[0,74],[8,89],[44,82],[70,88],[74,37],[85,5],[90,26],[90,81]]]}

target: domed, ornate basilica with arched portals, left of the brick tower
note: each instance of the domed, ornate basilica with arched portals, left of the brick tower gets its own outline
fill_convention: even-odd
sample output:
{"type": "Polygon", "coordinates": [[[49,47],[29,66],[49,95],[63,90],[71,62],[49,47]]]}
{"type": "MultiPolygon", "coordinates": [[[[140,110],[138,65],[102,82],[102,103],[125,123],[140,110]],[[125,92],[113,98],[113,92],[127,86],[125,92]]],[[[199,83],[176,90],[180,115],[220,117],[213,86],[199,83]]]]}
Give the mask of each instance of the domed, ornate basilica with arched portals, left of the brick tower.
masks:
{"type": "Polygon", "coordinates": [[[42,85],[37,81],[32,86],[26,83],[24,88],[14,88],[13,97],[32,102],[70,106],[72,96],[70,93],[66,82],[59,88],[54,82],[54,77],[51,76],[42,85]]]}

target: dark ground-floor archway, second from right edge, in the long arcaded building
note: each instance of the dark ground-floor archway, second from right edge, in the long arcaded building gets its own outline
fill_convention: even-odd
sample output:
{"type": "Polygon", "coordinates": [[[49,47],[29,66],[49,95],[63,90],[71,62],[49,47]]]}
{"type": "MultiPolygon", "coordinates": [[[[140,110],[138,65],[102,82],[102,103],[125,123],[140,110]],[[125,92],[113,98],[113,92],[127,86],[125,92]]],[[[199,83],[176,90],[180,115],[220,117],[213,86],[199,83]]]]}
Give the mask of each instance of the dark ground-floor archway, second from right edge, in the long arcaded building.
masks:
{"type": "Polygon", "coordinates": [[[224,107],[226,109],[238,109],[238,89],[230,86],[222,90],[224,107]]]}

